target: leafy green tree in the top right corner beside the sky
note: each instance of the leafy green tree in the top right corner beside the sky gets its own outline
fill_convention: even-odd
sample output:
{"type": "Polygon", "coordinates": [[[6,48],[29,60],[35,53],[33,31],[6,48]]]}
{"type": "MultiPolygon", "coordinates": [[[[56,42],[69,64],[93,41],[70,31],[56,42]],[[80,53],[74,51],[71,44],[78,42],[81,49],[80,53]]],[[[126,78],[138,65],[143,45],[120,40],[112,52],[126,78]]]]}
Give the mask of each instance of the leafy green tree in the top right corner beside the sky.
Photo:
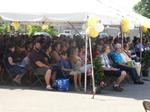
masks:
{"type": "Polygon", "coordinates": [[[150,0],[141,0],[134,6],[134,10],[137,13],[150,18],[150,0]]]}

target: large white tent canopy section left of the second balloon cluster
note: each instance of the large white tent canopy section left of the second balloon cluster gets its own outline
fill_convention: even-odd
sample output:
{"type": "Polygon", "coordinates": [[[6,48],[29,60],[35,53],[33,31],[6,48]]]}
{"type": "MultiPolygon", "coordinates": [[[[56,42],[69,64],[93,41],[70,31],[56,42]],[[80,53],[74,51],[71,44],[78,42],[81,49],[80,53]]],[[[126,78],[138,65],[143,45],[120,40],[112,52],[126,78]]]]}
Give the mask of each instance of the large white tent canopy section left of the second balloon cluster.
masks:
{"type": "Polygon", "coordinates": [[[115,11],[100,5],[96,0],[38,0],[36,2],[5,0],[2,2],[0,16],[4,20],[38,21],[45,16],[50,20],[78,22],[85,21],[87,16],[96,15],[103,24],[120,24],[120,16],[115,11]]]}

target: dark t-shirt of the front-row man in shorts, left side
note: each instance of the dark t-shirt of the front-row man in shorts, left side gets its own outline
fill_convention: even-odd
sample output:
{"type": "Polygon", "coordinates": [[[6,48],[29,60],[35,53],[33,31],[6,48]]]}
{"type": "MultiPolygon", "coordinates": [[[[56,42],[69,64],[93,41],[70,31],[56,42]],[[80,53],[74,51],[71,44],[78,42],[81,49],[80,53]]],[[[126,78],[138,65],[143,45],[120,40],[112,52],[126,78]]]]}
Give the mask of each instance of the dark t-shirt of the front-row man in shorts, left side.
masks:
{"type": "Polygon", "coordinates": [[[45,60],[45,56],[43,55],[43,53],[41,51],[36,51],[36,50],[32,50],[31,51],[31,54],[29,56],[29,59],[30,59],[30,63],[31,63],[31,66],[33,68],[39,68],[37,65],[36,65],[36,62],[37,61],[40,61],[44,64],[47,65],[47,62],[45,60]]]}

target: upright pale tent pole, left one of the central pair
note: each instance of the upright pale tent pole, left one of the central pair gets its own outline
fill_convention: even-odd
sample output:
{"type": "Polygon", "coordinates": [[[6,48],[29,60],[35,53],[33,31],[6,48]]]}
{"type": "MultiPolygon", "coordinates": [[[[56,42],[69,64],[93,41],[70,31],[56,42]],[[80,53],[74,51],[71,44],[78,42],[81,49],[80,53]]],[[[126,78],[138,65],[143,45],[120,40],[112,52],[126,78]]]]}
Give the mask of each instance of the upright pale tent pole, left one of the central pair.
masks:
{"type": "Polygon", "coordinates": [[[85,39],[85,75],[84,75],[84,92],[86,93],[87,89],[87,51],[88,51],[88,37],[85,39]]]}

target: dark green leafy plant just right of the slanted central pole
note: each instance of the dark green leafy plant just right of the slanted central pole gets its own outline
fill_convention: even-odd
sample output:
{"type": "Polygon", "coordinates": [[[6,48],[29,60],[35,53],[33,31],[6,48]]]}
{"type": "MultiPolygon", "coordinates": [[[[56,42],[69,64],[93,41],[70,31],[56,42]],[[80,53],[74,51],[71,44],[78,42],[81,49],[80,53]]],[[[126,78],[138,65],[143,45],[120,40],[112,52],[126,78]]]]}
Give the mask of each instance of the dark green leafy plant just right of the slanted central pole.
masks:
{"type": "Polygon", "coordinates": [[[93,60],[93,65],[94,65],[95,82],[96,82],[96,85],[98,85],[99,82],[104,79],[104,72],[103,72],[103,69],[102,69],[101,58],[96,57],[93,60]]]}

